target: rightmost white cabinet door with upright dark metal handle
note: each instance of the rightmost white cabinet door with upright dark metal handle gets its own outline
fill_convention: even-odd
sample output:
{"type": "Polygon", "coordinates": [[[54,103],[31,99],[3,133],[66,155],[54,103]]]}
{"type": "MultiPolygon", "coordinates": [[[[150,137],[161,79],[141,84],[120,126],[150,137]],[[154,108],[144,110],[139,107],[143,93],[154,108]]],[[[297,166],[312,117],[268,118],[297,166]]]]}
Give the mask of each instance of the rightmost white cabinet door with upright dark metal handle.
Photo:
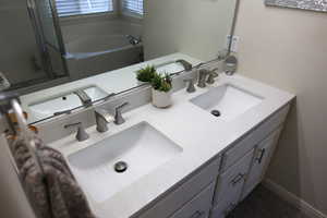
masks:
{"type": "Polygon", "coordinates": [[[276,130],[266,140],[258,144],[252,168],[246,178],[242,199],[244,199],[264,179],[265,171],[270,162],[280,131],[281,129],[276,130]]]}

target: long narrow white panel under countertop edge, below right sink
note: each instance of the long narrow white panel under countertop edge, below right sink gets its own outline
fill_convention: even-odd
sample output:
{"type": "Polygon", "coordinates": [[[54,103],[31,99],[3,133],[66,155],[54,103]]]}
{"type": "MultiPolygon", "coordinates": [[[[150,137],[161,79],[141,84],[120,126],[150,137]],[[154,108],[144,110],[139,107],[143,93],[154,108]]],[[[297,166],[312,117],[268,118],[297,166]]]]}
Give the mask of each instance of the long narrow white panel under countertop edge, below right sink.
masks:
{"type": "Polygon", "coordinates": [[[259,142],[262,142],[268,134],[275,131],[281,123],[283,123],[289,111],[289,106],[283,107],[267,121],[262,123],[243,140],[237,143],[232,148],[222,155],[221,171],[226,171],[230,166],[241,159],[249,150],[253,149],[259,142]]]}

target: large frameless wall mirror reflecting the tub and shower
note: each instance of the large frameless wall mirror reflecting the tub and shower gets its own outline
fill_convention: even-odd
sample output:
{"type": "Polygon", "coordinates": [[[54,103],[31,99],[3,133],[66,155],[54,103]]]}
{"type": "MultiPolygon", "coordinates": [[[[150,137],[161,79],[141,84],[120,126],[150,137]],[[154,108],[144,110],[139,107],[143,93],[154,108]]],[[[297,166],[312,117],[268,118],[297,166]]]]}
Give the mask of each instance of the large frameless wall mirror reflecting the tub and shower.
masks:
{"type": "Polygon", "coordinates": [[[146,65],[175,73],[228,50],[238,0],[2,0],[0,89],[28,122],[131,89],[146,65]],[[181,62],[183,60],[185,62],[181,62]]]}

